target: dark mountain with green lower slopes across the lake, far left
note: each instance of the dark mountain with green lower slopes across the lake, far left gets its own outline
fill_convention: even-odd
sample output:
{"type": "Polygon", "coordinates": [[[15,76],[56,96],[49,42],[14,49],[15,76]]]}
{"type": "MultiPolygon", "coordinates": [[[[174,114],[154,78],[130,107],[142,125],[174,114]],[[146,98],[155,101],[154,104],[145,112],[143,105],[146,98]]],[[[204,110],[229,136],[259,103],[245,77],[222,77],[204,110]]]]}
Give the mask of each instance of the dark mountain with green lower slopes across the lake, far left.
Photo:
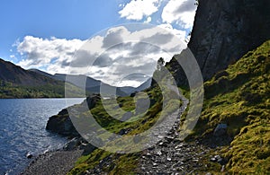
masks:
{"type": "MultiPolygon", "coordinates": [[[[67,84],[70,97],[81,97],[82,92],[73,84],[67,84]]],[[[0,58],[0,98],[62,98],[65,83],[41,74],[41,71],[24,70],[20,66],[0,58]]]]}

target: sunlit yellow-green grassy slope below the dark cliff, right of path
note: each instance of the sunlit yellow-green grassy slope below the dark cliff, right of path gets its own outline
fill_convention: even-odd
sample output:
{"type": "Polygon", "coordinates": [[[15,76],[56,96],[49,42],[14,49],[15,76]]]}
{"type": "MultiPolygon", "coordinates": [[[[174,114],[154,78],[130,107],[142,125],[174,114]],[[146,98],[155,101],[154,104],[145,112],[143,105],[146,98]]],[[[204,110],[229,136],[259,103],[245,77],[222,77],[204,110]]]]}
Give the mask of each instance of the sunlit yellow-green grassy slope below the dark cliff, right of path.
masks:
{"type": "MultiPolygon", "coordinates": [[[[234,140],[220,153],[231,173],[270,172],[270,40],[205,83],[202,118],[195,136],[209,136],[219,123],[234,140]]],[[[220,171],[220,170],[218,170],[220,171]]]]}

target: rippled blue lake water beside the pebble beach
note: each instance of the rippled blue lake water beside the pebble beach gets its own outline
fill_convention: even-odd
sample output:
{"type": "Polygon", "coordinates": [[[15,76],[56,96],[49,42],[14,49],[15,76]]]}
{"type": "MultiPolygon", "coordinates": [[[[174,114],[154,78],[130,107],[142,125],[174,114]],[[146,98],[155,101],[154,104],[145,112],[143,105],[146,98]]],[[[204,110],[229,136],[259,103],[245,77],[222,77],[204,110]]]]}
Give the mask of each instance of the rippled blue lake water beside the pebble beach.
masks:
{"type": "Polygon", "coordinates": [[[61,148],[67,138],[49,133],[50,116],[84,99],[0,99],[0,174],[18,174],[38,155],[61,148]]]}

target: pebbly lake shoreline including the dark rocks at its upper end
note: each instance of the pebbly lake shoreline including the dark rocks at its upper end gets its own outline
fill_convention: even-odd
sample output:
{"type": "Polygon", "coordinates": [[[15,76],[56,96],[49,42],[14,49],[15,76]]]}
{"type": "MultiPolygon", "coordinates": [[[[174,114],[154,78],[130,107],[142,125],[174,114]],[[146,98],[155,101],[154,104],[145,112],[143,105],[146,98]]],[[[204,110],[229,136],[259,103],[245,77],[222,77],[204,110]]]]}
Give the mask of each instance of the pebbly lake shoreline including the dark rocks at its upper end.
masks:
{"type": "Polygon", "coordinates": [[[67,141],[62,148],[40,153],[21,172],[21,175],[67,174],[75,167],[76,161],[85,153],[93,152],[95,147],[86,144],[82,137],[74,137],[67,141]]]}

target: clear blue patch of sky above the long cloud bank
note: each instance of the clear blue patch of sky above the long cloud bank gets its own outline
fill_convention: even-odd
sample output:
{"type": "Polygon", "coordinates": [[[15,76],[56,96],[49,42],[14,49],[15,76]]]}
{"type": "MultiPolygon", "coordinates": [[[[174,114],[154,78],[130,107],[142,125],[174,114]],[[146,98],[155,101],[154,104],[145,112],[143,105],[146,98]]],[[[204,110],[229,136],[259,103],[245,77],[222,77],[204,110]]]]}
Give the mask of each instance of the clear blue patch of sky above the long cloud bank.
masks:
{"type": "Polygon", "coordinates": [[[16,39],[31,35],[88,39],[95,32],[122,23],[120,0],[3,0],[0,2],[0,57],[9,59],[16,39]]]}

